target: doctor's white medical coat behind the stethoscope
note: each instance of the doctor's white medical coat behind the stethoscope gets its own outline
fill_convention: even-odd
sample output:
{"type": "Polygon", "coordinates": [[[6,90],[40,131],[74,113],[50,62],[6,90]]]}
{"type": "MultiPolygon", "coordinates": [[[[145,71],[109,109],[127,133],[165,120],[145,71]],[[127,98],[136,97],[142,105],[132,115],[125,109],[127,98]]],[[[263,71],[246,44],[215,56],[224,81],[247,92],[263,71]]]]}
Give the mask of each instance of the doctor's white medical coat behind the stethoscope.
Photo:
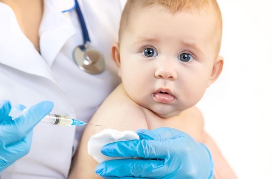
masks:
{"type": "MultiPolygon", "coordinates": [[[[54,102],[53,114],[90,120],[119,83],[110,52],[112,43],[117,41],[125,1],[79,3],[92,46],[106,60],[106,71],[90,75],[73,61],[74,48],[83,43],[74,0],[44,0],[40,54],[20,30],[12,9],[0,3],[0,99],[26,107],[50,100],[54,102]]],[[[82,131],[83,127],[38,124],[33,130],[30,152],[4,170],[1,179],[66,178],[82,131]]]]}

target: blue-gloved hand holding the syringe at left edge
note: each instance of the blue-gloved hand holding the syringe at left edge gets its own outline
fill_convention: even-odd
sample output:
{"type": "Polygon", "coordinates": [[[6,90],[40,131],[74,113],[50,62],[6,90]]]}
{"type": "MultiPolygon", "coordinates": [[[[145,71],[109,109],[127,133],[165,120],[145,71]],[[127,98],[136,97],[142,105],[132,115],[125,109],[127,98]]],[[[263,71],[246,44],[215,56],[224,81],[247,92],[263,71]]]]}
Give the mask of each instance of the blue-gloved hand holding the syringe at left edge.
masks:
{"type": "MultiPolygon", "coordinates": [[[[23,105],[15,106],[23,111],[23,105]]],[[[0,101],[0,172],[26,155],[31,146],[32,129],[50,113],[53,103],[44,101],[27,109],[23,115],[11,119],[10,101],[0,101]]]]}

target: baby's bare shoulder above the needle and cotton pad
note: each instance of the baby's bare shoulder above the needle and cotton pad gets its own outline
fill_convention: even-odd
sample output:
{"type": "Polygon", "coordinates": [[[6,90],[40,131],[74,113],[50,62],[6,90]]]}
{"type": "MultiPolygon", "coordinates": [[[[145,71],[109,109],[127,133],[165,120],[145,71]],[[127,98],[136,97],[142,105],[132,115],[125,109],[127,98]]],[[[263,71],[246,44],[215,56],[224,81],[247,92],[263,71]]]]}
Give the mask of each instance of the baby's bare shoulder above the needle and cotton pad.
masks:
{"type": "Polygon", "coordinates": [[[142,108],[127,95],[122,84],[101,104],[90,122],[117,130],[147,128],[142,108]]]}

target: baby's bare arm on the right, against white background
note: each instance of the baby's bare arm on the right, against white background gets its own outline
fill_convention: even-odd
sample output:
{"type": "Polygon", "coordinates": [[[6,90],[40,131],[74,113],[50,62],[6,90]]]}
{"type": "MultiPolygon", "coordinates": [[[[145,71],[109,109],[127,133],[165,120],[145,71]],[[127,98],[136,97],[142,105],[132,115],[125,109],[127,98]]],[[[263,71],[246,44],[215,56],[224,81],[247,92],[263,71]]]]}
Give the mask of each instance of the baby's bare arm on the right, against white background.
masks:
{"type": "Polygon", "coordinates": [[[209,136],[206,132],[204,132],[204,140],[202,141],[209,151],[211,151],[213,160],[214,160],[214,167],[215,167],[215,179],[237,179],[235,172],[232,168],[228,165],[227,161],[225,160],[224,156],[222,155],[220,149],[218,148],[215,141],[209,136]]]}

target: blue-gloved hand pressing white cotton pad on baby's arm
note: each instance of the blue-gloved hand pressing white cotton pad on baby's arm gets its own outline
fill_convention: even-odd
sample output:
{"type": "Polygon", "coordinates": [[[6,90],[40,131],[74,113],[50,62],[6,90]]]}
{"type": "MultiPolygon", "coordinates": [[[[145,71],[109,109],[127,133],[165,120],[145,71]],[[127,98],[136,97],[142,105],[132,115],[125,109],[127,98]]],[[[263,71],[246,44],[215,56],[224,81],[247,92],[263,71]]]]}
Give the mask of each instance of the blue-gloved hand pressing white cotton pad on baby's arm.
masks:
{"type": "Polygon", "coordinates": [[[204,144],[172,128],[137,131],[140,140],[107,144],[107,156],[142,159],[110,160],[100,163],[95,172],[104,178],[213,178],[214,164],[204,144]]]}

